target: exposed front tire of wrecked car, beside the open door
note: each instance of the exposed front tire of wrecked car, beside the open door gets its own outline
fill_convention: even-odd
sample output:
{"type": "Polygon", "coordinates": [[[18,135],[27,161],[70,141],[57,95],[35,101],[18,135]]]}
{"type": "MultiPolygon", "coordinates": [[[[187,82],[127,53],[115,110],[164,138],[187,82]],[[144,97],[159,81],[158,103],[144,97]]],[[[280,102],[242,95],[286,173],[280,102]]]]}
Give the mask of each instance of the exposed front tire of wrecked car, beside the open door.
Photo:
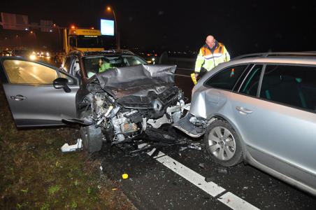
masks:
{"type": "MultiPolygon", "coordinates": [[[[89,116],[91,111],[86,111],[80,116],[89,116]]],[[[88,153],[101,151],[102,148],[102,132],[101,127],[96,127],[94,124],[80,127],[80,134],[83,148],[88,153]]]]}

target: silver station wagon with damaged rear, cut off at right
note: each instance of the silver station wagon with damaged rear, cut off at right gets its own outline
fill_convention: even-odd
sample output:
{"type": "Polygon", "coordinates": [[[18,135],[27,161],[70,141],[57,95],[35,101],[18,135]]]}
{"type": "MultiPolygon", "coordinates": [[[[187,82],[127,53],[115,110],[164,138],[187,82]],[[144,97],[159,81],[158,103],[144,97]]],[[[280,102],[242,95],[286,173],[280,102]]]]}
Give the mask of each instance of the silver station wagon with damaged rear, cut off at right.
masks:
{"type": "Polygon", "coordinates": [[[316,53],[237,57],[206,73],[189,114],[173,124],[205,134],[213,161],[245,161],[316,195],[316,53]]]}

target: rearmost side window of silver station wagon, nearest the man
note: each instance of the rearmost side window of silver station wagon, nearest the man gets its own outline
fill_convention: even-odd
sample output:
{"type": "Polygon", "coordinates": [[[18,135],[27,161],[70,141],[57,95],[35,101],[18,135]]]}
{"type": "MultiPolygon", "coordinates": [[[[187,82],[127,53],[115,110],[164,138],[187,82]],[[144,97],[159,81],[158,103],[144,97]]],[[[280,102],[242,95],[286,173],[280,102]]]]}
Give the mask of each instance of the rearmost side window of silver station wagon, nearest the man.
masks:
{"type": "Polygon", "coordinates": [[[232,90],[240,75],[245,71],[247,65],[230,66],[206,81],[205,85],[224,90],[232,90]]]}

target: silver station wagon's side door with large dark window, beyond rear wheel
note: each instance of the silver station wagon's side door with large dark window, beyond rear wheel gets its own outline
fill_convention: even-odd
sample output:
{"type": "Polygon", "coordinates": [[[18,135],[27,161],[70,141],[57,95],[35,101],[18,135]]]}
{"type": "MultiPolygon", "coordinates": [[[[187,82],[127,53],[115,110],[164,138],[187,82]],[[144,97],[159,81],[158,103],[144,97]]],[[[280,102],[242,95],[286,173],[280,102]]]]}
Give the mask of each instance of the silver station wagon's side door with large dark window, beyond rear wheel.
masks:
{"type": "Polygon", "coordinates": [[[254,70],[231,100],[247,151],[316,188],[316,66],[268,64],[254,70]]]}

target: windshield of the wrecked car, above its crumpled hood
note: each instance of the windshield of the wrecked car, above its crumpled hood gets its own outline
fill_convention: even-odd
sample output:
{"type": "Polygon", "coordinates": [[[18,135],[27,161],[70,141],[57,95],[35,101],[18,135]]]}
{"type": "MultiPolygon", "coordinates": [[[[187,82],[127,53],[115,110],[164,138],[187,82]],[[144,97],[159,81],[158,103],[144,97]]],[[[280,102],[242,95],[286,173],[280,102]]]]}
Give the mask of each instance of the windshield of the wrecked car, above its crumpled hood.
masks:
{"type": "Polygon", "coordinates": [[[136,55],[109,55],[85,57],[83,59],[85,73],[87,78],[94,76],[95,73],[101,73],[111,68],[122,66],[134,66],[138,64],[147,64],[145,60],[136,55]]]}

